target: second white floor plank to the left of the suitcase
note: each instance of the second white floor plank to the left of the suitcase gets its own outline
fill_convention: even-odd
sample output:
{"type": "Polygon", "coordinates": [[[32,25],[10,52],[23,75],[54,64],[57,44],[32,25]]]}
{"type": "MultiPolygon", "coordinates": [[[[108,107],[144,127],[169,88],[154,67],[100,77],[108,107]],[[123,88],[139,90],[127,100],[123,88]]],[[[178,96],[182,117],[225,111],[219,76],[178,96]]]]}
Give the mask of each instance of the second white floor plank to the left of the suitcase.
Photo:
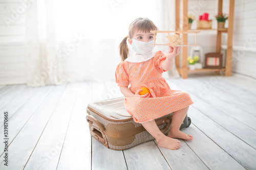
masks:
{"type": "Polygon", "coordinates": [[[78,88],[79,83],[69,83],[67,88],[65,88],[25,169],[33,169],[35,165],[42,169],[57,168],[78,88]],[[48,157],[42,155],[42,153],[45,153],[48,157]],[[42,159],[42,157],[44,159],[42,159]]]}

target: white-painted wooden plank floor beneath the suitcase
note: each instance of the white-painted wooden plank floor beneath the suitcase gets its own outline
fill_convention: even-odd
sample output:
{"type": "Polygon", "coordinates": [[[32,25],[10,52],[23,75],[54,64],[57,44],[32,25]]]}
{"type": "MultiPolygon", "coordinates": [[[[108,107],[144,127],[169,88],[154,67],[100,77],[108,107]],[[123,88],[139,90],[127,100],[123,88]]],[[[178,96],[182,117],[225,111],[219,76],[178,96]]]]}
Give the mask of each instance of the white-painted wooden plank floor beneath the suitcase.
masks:
{"type": "Polygon", "coordinates": [[[194,74],[167,82],[195,103],[183,130],[194,139],[176,151],[155,141],[114,151],[91,138],[87,105],[122,96],[114,81],[0,86],[1,141],[5,111],[9,118],[9,162],[0,142],[0,169],[256,169],[256,80],[194,74]]]}

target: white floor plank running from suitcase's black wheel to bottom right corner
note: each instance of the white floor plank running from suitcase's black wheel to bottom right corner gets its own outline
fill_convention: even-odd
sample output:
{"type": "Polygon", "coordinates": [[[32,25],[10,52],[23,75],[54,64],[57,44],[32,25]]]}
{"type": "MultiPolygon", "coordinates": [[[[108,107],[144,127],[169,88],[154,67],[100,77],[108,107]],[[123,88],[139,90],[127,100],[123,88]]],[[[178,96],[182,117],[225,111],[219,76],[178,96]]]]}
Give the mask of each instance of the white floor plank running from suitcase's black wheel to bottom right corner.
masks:
{"type": "MultiPolygon", "coordinates": [[[[189,116],[193,124],[197,126],[200,131],[217,143],[225,152],[236,159],[245,168],[253,169],[256,167],[256,162],[254,161],[254,158],[256,158],[256,150],[254,148],[227,131],[218,123],[212,121],[212,119],[195,109],[195,107],[189,108],[189,116]]],[[[190,128],[187,128],[186,131],[189,129],[190,128]]],[[[222,164],[226,163],[226,159],[226,156],[219,155],[214,163],[222,167],[222,164]]]]}

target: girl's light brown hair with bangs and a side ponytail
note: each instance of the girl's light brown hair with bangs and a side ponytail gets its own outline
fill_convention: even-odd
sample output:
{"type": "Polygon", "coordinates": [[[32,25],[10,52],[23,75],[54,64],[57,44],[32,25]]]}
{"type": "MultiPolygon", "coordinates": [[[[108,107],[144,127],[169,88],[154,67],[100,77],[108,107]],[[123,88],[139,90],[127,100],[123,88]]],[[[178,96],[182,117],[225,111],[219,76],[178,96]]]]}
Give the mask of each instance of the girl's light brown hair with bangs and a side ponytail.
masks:
{"type": "MultiPolygon", "coordinates": [[[[143,32],[150,32],[152,30],[158,30],[158,28],[156,27],[156,25],[148,18],[137,18],[135,19],[129,26],[129,33],[128,36],[130,38],[133,37],[134,32],[141,30],[143,32]]],[[[127,38],[125,37],[120,45],[119,45],[119,53],[121,56],[122,61],[124,61],[129,54],[129,48],[127,45],[127,38]]]]}

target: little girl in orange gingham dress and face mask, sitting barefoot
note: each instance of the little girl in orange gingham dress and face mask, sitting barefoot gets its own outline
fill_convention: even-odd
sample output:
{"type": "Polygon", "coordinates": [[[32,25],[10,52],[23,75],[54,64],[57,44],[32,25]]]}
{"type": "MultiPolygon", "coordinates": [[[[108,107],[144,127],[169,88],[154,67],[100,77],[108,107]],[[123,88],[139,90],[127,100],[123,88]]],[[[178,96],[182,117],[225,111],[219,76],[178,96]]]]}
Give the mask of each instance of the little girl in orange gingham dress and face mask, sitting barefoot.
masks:
{"type": "Polygon", "coordinates": [[[161,147],[176,150],[180,141],[174,138],[192,140],[179,130],[189,105],[193,104],[189,94],[171,90],[162,78],[162,72],[172,69],[174,58],[180,53],[179,47],[169,46],[168,54],[161,51],[153,53],[154,34],[158,30],[148,18],[137,18],[129,27],[129,35],[119,45],[122,62],[117,66],[115,77],[120,91],[125,96],[125,109],[133,116],[135,122],[142,126],[156,139],[161,147]],[[136,55],[129,56],[128,43],[136,55]],[[128,88],[129,84],[131,86],[128,88]],[[146,87],[148,93],[140,95],[140,88],[146,87]],[[155,119],[173,113],[172,124],[165,136],[156,125],[155,119]]]}

